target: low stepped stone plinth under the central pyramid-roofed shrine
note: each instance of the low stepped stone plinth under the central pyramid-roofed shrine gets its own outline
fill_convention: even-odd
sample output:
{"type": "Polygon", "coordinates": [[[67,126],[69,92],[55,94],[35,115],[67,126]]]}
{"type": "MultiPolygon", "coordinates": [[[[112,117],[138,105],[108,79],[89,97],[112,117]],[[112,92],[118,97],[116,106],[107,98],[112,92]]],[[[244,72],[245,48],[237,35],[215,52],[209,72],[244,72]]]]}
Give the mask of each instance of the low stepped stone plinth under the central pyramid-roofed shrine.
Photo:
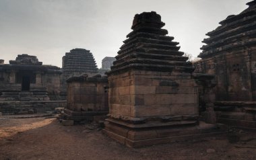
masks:
{"type": "MultiPolygon", "coordinates": [[[[172,122],[166,126],[150,127],[149,124],[143,127],[143,124],[133,124],[133,128],[124,125],[118,125],[116,120],[107,119],[104,133],[110,138],[127,147],[143,147],[163,143],[175,143],[187,141],[193,138],[205,138],[216,134],[226,132],[224,124],[206,124],[200,122],[199,125],[184,126],[183,122],[172,122]],[[115,121],[115,122],[114,122],[115,121]]],[[[152,124],[152,126],[156,126],[152,124]]]]}

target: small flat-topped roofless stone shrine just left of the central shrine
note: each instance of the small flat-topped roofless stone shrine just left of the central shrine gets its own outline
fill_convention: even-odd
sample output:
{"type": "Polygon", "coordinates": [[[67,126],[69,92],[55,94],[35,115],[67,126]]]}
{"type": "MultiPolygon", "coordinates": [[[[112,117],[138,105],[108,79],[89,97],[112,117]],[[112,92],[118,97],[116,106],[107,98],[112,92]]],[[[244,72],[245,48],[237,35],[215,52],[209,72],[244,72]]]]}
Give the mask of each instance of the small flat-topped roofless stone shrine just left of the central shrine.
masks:
{"type": "Polygon", "coordinates": [[[108,79],[96,75],[81,75],[67,79],[65,120],[94,120],[108,114],[108,79]]]}

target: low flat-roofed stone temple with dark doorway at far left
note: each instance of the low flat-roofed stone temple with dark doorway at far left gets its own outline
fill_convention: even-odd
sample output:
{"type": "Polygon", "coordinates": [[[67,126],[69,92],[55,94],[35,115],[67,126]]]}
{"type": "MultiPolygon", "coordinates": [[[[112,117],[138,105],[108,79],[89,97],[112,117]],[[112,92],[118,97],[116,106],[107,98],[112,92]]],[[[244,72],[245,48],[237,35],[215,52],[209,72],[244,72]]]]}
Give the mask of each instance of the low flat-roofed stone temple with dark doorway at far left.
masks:
{"type": "Polygon", "coordinates": [[[33,106],[36,101],[57,100],[59,97],[61,69],[51,65],[42,65],[36,56],[18,55],[9,64],[0,64],[0,110],[1,112],[19,112],[33,106]],[[15,105],[11,105],[11,104],[15,105]],[[21,104],[22,102],[22,104],[21,104]]]}

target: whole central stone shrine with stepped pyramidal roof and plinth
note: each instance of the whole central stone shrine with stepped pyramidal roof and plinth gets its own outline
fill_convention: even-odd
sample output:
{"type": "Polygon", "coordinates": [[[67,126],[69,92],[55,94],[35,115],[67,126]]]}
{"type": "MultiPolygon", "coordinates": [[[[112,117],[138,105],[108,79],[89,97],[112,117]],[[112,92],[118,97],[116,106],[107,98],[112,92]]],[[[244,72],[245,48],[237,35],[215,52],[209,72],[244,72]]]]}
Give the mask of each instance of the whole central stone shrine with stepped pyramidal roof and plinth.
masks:
{"type": "Polygon", "coordinates": [[[198,126],[194,69],[163,26],[154,11],[135,15],[133,31],[107,73],[109,118],[104,132],[129,147],[206,132],[198,126]]]}

